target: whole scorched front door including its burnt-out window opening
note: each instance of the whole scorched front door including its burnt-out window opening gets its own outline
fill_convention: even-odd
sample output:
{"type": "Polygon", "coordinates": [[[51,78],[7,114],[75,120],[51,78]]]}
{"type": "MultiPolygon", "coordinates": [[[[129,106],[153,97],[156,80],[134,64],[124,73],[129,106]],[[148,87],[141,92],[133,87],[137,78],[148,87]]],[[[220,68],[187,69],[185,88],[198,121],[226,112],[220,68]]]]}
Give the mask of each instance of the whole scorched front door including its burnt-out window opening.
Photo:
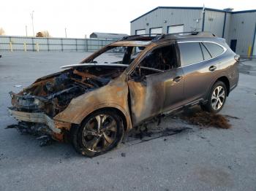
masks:
{"type": "Polygon", "coordinates": [[[141,68],[137,67],[135,75],[130,76],[128,86],[133,125],[173,109],[184,100],[183,71],[177,67],[175,46],[168,44],[148,52],[139,64],[141,68]]]}

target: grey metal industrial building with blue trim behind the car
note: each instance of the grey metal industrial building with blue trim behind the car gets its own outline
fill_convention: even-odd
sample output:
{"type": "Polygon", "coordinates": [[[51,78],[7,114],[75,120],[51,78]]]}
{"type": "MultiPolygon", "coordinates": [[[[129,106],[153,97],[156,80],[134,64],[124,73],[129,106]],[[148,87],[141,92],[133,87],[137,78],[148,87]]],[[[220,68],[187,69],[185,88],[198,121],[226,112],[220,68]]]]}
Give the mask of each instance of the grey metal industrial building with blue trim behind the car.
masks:
{"type": "Polygon", "coordinates": [[[240,55],[256,56],[256,9],[157,7],[131,21],[131,34],[170,34],[210,31],[226,39],[240,55]]]}

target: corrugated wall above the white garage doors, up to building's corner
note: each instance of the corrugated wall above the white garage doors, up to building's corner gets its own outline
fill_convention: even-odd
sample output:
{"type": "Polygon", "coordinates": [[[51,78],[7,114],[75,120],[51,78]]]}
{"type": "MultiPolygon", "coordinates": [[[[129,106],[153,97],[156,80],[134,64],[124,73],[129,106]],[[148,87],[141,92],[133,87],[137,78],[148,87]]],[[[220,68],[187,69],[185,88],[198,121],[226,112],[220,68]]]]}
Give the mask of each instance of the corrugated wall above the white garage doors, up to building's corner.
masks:
{"type": "MultiPolygon", "coordinates": [[[[131,34],[135,34],[135,30],[138,29],[146,29],[146,34],[149,34],[149,29],[156,27],[162,27],[163,33],[167,33],[167,26],[176,25],[184,25],[184,31],[202,31],[202,11],[201,9],[156,9],[132,22],[131,34]]],[[[211,31],[222,37],[224,20],[225,12],[206,9],[204,31],[211,31]]]]}

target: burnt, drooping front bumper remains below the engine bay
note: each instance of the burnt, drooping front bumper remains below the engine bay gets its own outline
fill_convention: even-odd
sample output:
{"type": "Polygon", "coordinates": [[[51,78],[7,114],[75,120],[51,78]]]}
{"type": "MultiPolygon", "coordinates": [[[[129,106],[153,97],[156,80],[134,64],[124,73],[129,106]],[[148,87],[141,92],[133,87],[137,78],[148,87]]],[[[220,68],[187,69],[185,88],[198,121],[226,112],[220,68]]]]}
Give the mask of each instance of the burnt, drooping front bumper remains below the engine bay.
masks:
{"type": "Polygon", "coordinates": [[[19,122],[31,122],[47,126],[50,136],[58,141],[63,141],[64,132],[67,132],[71,127],[70,123],[53,120],[43,112],[20,112],[15,107],[10,107],[9,113],[19,122]]]}

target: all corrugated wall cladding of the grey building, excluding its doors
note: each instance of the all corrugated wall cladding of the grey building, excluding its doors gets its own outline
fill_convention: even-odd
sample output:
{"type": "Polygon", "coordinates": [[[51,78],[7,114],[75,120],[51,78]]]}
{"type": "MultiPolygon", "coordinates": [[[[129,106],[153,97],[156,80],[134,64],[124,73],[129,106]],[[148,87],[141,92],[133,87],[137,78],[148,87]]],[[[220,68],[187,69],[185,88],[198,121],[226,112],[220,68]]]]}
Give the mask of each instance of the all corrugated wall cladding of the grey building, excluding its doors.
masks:
{"type": "MultiPolygon", "coordinates": [[[[232,39],[237,39],[236,52],[239,55],[247,55],[249,46],[253,44],[255,35],[256,12],[226,13],[212,9],[205,10],[204,31],[224,37],[230,45],[232,39]],[[225,30],[223,35],[223,28],[225,30]]],[[[163,33],[167,33],[167,26],[184,24],[184,31],[202,31],[203,13],[201,9],[182,9],[160,7],[143,15],[131,23],[131,34],[138,29],[162,27],[163,33]]],[[[256,47],[254,47],[256,49],[256,47]]]]}

